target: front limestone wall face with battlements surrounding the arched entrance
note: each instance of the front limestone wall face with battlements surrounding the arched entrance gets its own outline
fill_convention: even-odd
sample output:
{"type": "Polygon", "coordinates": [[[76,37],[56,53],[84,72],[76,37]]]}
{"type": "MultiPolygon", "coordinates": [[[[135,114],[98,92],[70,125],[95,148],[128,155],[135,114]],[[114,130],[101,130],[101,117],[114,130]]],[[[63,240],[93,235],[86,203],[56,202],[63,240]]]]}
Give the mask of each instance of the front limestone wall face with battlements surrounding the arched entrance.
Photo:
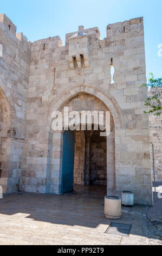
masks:
{"type": "Polygon", "coordinates": [[[119,192],[131,190],[135,203],[150,205],[150,135],[148,115],[144,114],[147,90],[140,88],[146,82],[143,20],[108,25],[103,40],[98,28],[83,32],[89,40],[88,68],[70,70],[69,37],[77,32],[66,35],[65,46],[59,36],[31,44],[22,189],[46,192],[49,182],[50,193],[60,192],[63,141],[61,133],[51,132],[51,113],[83,93],[100,99],[114,119],[115,152],[114,160],[107,162],[107,176],[111,177],[108,187],[115,178],[111,188],[119,192]],[[110,83],[111,65],[115,69],[114,84],[110,83]],[[49,178],[51,173],[53,178],[49,178]]]}

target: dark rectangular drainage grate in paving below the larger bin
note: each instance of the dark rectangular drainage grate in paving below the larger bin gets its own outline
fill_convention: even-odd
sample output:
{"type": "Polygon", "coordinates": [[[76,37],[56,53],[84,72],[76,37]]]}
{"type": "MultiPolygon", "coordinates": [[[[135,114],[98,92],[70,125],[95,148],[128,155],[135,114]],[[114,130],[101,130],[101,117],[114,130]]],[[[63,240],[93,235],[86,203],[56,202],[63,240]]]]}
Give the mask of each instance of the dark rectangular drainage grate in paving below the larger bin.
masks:
{"type": "Polygon", "coordinates": [[[129,236],[132,225],[112,222],[106,230],[106,234],[129,236]]]}

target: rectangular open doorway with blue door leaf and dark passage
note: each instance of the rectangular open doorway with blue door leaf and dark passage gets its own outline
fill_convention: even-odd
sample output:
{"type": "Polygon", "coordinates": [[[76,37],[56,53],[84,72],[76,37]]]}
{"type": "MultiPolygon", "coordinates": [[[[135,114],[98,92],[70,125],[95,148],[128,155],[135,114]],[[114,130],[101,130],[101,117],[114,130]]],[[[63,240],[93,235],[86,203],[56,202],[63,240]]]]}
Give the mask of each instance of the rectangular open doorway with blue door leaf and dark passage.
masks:
{"type": "Polygon", "coordinates": [[[80,192],[83,186],[100,186],[106,193],[107,140],[100,132],[64,131],[62,193],[80,192]]]}

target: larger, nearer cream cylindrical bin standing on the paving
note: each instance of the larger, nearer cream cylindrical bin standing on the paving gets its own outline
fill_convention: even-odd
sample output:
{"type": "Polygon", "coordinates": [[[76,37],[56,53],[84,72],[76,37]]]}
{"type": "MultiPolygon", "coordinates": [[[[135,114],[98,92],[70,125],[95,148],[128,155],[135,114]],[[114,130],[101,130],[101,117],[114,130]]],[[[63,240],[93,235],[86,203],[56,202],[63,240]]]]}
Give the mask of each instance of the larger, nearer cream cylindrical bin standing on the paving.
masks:
{"type": "Polygon", "coordinates": [[[105,217],[119,219],[121,216],[121,199],[119,197],[105,197],[105,217]]]}

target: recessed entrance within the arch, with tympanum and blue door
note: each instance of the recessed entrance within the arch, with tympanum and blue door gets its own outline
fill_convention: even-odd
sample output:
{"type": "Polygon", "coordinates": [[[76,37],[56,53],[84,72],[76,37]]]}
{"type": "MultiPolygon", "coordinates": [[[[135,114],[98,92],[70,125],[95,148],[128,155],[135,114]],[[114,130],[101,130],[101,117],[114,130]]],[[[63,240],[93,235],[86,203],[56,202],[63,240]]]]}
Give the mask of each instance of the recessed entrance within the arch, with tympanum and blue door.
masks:
{"type": "MultiPolygon", "coordinates": [[[[110,112],[105,103],[93,95],[79,93],[64,103],[60,109],[64,114],[64,107],[70,111],[100,111],[104,114],[110,112]]],[[[51,170],[55,170],[54,162],[59,167],[60,186],[59,193],[72,191],[79,186],[101,186],[112,190],[115,187],[115,141],[114,141],[114,121],[111,115],[111,131],[108,137],[100,136],[101,130],[95,131],[94,124],[92,130],[54,132],[51,142],[51,155],[56,156],[56,150],[60,154],[60,159],[51,159],[51,170]],[[60,133],[60,141],[59,141],[60,133]],[[56,146],[57,145],[57,146],[56,146]],[[60,148],[59,148],[60,147],[60,148]],[[59,166],[58,166],[58,163],[59,166]],[[76,186],[77,185],[77,186],[76,186]]],[[[105,115],[104,115],[105,120],[105,115]]],[[[80,124],[81,125],[81,124],[80,124]]],[[[64,126],[64,125],[63,125],[64,126]]],[[[57,154],[57,156],[58,156],[57,154]]],[[[51,174],[53,175],[54,174],[51,174]]],[[[51,179],[48,179],[48,185],[51,179]]],[[[49,193],[48,188],[48,193],[49,193]]]]}

